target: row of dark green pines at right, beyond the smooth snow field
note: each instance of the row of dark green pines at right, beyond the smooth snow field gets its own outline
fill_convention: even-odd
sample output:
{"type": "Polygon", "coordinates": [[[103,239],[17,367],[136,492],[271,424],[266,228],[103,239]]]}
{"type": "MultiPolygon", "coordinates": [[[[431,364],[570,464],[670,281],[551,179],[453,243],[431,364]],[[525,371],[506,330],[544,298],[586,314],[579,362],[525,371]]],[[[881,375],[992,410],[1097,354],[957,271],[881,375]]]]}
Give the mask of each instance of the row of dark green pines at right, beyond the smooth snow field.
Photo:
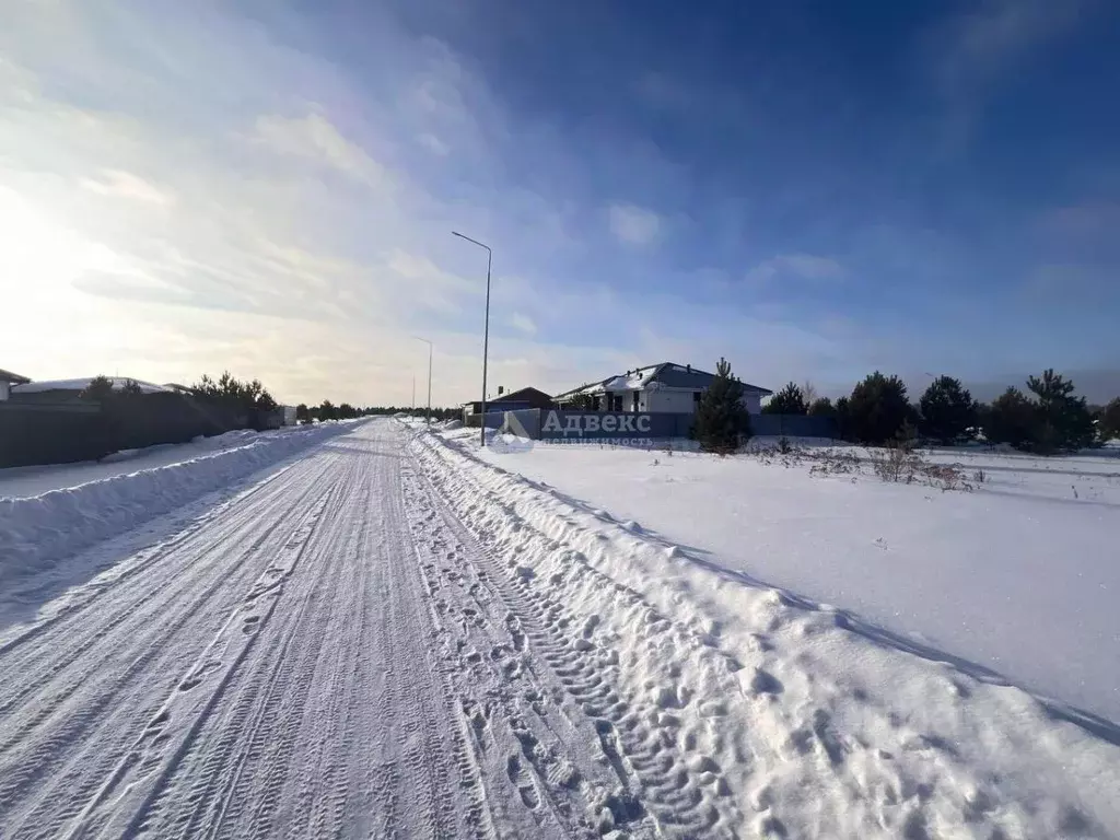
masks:
{"type": "Polygon", "coordinates": [[[809,389],[791,382],[763,411],[829,417],[840,438],[870,445],[916,438],[944,445],[984,440],[1046,455],[1120,437],[1120,398],[1091,407],[1075,393],[1074,383],[1053,368],[1029,376],[1025,384],[1026,392],[1012,386],[991,403],[981,403],[960,380],[939,376],[912,403],[898,376],[876,371],[834,402],[806,399],[809,389]]]}

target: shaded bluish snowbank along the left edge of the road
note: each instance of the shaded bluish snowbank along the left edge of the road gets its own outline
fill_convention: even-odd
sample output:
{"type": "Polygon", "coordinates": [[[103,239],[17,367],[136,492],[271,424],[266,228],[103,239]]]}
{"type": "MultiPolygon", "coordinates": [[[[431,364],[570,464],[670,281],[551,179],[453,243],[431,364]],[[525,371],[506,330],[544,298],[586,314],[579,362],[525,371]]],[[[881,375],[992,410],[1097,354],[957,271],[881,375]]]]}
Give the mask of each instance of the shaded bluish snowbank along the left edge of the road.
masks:
{"type": "Polygon", "coordinates": [[[0,498],[0,585],[41,571],[352,428],[334,423],[261,436],[245,446],[178,464],[38,496],[0,498]]]}

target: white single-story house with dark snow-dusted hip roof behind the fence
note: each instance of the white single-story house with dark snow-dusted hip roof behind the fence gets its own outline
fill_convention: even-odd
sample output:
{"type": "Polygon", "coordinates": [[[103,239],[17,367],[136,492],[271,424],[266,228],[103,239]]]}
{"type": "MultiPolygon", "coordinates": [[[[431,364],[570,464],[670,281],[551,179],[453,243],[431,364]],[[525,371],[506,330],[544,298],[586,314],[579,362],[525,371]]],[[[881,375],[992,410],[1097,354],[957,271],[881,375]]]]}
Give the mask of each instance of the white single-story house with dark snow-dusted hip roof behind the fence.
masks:
{"type": "MultiPolygon", "coordinates": [[[[590,398],[595,411],[664,412],[691,414],[716,374],[674,362],[638,367],[580,385],[556,398],[561,407],[590,398]]],[[[743,402],[752,414],[762,412],[762,400],[773,391],[743,383],[743,402]]]]}

